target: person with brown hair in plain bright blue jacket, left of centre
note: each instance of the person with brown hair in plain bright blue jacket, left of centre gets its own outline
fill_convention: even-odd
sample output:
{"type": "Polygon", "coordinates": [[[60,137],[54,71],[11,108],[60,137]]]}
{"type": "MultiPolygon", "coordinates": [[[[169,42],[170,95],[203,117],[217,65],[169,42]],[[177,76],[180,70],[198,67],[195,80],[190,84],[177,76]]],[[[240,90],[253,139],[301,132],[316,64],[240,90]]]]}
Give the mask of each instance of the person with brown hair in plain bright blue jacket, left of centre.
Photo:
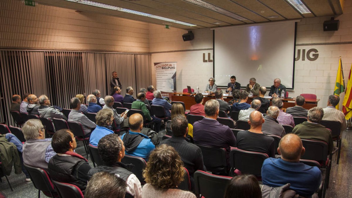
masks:
{"type": "Polygon", "coordinates": [[[95,119],[96,128],[90,134],[89,144],[97,147],[102,137],[114,133],[114,131],[108,129],[114,119],[113,112],[110,109],[102,109],[96,114],[95,119]]]}

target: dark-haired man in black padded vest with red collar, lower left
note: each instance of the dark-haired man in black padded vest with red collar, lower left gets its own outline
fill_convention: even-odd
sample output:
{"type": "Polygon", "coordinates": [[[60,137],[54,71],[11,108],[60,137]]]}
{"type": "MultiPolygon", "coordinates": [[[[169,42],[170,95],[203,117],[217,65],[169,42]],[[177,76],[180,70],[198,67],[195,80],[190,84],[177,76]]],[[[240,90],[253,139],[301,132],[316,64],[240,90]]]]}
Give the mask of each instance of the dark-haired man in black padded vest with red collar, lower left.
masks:
{"type": "Polygon", "coordinates": [[[69,129],[61,129],[52,136],[51,146],[57,153],[49,161],[50,178],[74,184],[84,193],[88,182],[88,171],[92,168],[88,160],[74,152],[76,139],[69,129]]]}

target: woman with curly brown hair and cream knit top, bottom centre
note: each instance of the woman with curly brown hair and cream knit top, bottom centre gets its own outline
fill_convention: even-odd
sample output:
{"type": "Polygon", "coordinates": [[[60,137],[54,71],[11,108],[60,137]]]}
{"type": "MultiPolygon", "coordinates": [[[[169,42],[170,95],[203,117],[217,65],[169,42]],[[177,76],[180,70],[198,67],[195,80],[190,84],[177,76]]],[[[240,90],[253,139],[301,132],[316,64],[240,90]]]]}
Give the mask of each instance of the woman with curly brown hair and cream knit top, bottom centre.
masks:
{"type": "Polygon", "coordinates": [[[153,150],[143,171],[147,184],[143,198],[195,198],[192,192],[177,189],[183,180],[183,162],[174,147],[162,144],[153,150]]]}

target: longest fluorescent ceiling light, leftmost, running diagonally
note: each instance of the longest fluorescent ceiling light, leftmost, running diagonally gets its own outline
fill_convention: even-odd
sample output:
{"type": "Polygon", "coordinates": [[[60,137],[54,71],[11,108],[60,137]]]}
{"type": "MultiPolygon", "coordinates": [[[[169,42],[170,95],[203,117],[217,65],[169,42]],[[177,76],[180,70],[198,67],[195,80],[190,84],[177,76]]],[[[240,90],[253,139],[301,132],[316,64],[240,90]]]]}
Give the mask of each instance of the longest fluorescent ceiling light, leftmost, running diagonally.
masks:
{"type": "Polygon", "coordinates": [[[144,12],[128,10],[126,8],[121,8],[121,7],[117,7],[117,6],[102,4],[102,3],[99,3],[99,2],[95,2],[95,1],[89,1],[89,0],[66,0],[66,1],[76,2],[76,3],[90,5],[90,6],[95,6],[95,7],[106,8],[106,9],[110,9],[110,10],[116,10],[116,11],[120,11],[120,12],[127,12],[127,13],[130,13],[130,14],[137,14],[139,16],[150,17],[150,18],[154,18],[154,19],[160,19],[160,20],[169,21],[169,22],[172,22],[172,23],[178,23],[178,24],[181,24],[181,25],[196,26],[195,24],[191,24],[191,23],[186,23],[186,22],[182,22],[182,21],[178,21],[178,20],[174,20],[174,19],[160,17],[160,16],[156,16],[156,15],[148,14],[148,13],[144,13],[144,12]]]}

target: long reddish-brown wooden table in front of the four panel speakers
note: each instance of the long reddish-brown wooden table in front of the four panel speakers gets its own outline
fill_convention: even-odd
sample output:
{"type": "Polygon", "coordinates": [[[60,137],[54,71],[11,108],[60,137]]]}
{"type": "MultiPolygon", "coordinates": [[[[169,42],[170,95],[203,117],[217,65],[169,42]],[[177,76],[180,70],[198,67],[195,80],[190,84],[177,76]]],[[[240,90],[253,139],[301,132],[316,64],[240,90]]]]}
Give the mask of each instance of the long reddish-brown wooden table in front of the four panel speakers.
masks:
{"type": "MultiPolygon", "coordinates": [[[[195,94],[189,94],[189,93],[179,93],[179,92],[175,92],[175,93],[168,93],[170,100],[172,101],[182,101],[184,103],[184,105],[186,106],[186,109],[189,110],[190,107],[192,105],[195,105],[196,102],[194,101],[194,95],[195,94]]],[[[210,100],[210,99],[215,99],[214,94],[210,94],[210,95],[203,95],[203,105],[205,104],[206,101],[210,100]]],[[[250,104],[252,102],[252,98],[255,97],[249,97],[247,100],[247,103],[250,104]]],[[[230,101],[232,99],[232,96],[224,96],[224,100],[226,102],[230,101]]],[[[270,99],[271,100],[271,99],[270,99]]],[[[316,100],[306,100],[306,104],[303,105],[303,107],[305,109],[310,109],[312,107],[315,107],[318,105],[320,99],[316,99],[316,100]]],[[[288,107],[293,107],[295,106],[295,98],[285,98],[283,100],[283,108],[288,108],[288,107]]],[[[271,102],[270,102],[271,105],[271,102]]]]}

